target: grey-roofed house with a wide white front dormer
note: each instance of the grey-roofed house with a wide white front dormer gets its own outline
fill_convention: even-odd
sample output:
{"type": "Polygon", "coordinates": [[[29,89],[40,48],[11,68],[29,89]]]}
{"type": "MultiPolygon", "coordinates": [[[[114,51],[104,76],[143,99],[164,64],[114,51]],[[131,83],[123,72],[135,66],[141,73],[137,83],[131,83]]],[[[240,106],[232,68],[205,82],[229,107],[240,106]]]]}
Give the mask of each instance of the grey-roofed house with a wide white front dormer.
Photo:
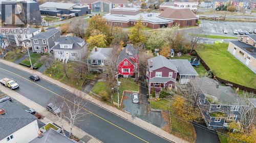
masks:
{"type": "Polygon", "coordinates": [[[51,48],[55,59],[67,61],[81,61],[87,51],[87,43],[78,37],[60,37],[55,40],[55,45],[51,48]]]}

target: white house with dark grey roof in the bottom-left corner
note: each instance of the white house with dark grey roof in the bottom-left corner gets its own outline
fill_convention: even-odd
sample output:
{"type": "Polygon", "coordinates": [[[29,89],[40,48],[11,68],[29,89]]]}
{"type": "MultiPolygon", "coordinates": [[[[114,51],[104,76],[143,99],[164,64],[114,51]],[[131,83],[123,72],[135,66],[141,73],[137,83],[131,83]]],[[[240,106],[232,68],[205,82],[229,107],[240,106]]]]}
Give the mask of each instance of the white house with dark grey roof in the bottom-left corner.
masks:
{"type": "Polygon", "coordinates": [[[10,101],[0,103],[0,143],[30,142],[37,136],[35,116],[10,101]]]}

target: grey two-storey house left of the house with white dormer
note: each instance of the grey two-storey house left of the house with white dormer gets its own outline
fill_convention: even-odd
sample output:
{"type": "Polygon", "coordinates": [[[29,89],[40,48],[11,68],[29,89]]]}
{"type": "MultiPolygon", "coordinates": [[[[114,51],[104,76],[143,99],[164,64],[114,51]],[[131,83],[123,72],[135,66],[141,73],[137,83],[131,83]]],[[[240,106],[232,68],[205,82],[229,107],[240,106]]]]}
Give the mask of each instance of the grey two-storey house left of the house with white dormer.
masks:
{"type": "Polygon", "coordinates": [[[60,37],[60,30],[51,28],[30,38],[33,52],[50,52],[55,45],[54,41],[60,37]]]}

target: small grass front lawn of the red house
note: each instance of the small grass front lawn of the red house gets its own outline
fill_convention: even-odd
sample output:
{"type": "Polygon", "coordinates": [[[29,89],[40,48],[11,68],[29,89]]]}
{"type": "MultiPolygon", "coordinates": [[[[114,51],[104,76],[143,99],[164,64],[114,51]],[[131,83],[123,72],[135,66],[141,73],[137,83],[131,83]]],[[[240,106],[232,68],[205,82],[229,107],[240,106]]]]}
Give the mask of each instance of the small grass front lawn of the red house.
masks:
{"type": "MultiPolygon", "coordinates": [[[[121,101],[124,90],[139,91],[139,84],[134,81],[133,78],[119,78],[121,85],[119,87],[119,100],[121,101]]],[[[117,103],[117,93],[113,94],[113,100],[117,103]]]]}

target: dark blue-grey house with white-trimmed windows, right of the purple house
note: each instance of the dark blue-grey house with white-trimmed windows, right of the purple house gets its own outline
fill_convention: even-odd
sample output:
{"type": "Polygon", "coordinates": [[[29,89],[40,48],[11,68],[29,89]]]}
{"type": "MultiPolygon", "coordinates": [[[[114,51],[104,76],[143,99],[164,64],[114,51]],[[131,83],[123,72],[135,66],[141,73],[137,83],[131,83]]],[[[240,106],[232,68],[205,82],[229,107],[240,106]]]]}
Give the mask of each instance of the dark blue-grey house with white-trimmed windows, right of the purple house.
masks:
{"type": "Polygon", "coordinates": [[[202,111],[205,123],[211,129],[223,129],[231,121],[240,120],[240,110],[247,106],[240,105],[238,95],[231,87],[219,85],[211,78],[199,78],[201,94],[198,105],[202,111]]]}

